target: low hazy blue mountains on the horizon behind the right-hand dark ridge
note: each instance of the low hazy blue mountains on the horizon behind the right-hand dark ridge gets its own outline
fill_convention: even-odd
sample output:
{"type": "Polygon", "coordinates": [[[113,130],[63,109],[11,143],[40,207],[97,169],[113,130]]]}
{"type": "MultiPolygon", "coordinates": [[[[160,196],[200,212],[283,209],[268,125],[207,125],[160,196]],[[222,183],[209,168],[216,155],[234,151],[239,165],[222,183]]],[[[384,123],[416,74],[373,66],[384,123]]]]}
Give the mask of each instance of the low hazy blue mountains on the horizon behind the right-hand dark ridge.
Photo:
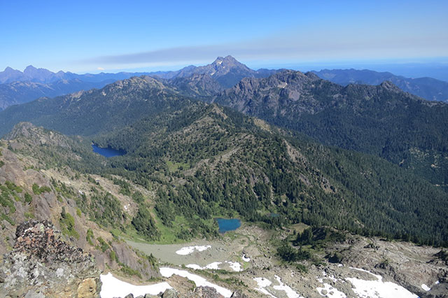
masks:
{"type": "Polygon", "coordinates": [[[339,85],[367,84],[379,85],[385,80],[391,81],[401,90],[415,94],[430,101],[448,102],[448,82],[435,78],[405,78],[393,73],[370,71],[367,69],[323,69],[313,71],[319,78],[330,80],[339,85]]]}

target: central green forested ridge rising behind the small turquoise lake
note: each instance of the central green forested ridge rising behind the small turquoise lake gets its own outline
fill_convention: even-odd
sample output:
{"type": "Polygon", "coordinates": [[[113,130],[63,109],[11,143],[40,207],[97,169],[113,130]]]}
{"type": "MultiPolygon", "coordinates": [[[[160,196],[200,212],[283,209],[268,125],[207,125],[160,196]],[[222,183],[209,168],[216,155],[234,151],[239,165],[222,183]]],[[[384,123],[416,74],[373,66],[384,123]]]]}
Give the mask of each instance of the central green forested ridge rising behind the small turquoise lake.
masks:
{"type": "MultiPolygon", "coordinates": [[[[440,204],[447,201],[445,192],[379,157],[297,140],[267,127],[228,108],[196,103],[98,136],[99,145],[127,155],[107,159],[104,166],[95,162],[104,158],[78,149],[90,160],[78,162],[78,169],[122,176],[155,190],[153,216],[181,239],[213,235],[213,218],[239,216],[272,227],[305,222],[418,243],[446,241],[447,204],[440,204]],[[179,221],[188,224],[178,229],[179,221]]],[[[138,198],[126,185],[123,192],[138,198]]],[[[113,198],[94,201],[112,208],[106,214],[120,214],[113,198]]],[[[89,208],[98,207],[81,205],[83,211],[89,208]]],[[[132,221],[139,229],[146,229],[142,218],[155,227],[152,217],[144,216],[148,208],[139,201],[141,211],[132,221]]],[[[153,239],[158,232],[146,235],[153,239]]]]}

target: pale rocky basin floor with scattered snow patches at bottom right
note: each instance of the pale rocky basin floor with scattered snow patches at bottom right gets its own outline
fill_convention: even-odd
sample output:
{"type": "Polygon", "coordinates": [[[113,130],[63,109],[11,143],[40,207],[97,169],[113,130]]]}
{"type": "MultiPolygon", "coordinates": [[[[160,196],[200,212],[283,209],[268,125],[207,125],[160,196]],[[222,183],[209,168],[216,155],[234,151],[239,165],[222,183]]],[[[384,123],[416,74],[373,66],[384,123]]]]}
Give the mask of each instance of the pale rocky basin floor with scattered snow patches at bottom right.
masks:
{"type": "MultiPolygon", "coordinates": [[[[312,249],[313,257],[308,260],[281,261],[274,243],[290,242],[297,236],[294,231],[300,233],[303,228],[295,225],[273,230],[243,223],[220,239],[200,239],[183,245],[139,243],[139,248],[146,253],[159,252],[162,262],[174,262],[170,267],[209,264],[208,269],[195,271],[183,266],[182,270],[213,278],[221,287],[238,289],[253,298],[447,297],[446,250],[337,231],[344,236],[302,246],[312,249]],[[191,255],[175,253],[181,246],[195,245],[210,248],[191,255]],[[241,268],[235,271],[223,266],[226,260],[241,264],[241,268]]],[[[176,289],[178,297],[190,297],[192,286],[186,278],[174,275],[165,281],[176,289]]],[[[174,294],[173,290],[168,292],[174,294]]]]}

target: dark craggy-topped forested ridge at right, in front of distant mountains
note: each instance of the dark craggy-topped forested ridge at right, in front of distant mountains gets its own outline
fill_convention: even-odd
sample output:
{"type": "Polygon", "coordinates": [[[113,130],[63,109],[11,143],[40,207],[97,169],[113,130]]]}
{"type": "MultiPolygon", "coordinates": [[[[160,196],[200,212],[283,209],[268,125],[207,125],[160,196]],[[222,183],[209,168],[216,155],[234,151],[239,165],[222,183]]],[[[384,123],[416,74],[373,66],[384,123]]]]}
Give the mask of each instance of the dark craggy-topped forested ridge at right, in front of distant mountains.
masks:
{"type": "Polygon", "coordinates": [[[366,152],[448,183],[448,105],[402,92],[390,82],[343,87],[314,73],[245,78],[211,102],[307,134],[329,146],[366,152]]]}

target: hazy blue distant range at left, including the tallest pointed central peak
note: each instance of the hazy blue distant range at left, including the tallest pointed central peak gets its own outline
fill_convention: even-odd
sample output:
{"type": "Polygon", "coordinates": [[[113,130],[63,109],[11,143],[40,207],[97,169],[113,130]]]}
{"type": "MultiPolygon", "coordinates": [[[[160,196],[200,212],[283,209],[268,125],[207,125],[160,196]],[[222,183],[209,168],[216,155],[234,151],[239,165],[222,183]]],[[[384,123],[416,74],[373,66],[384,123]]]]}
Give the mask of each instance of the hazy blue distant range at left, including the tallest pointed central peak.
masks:
{"type": "Polygon", "coordinates": [[[48,69],[36,69],[27,66],[25,71],[7,67],[0,72],[0,111],[13,104],[38,99],[39,97],[57,97],[80,90],[101,88],[116,80],[133,76],[157,76],[171,81],[174,87],[188,90],[192,97],[216,94],[236,85],[242,78],[265,78],[275,70],[259,69],[254,71],[241,64],[232,56],[218,57],[206,66],[187,66],[179,71],[158,71],[151,73],[86,73],[76,74],[48,69]],[[189,85],[190,87],[187,87],[189,85]]]}

